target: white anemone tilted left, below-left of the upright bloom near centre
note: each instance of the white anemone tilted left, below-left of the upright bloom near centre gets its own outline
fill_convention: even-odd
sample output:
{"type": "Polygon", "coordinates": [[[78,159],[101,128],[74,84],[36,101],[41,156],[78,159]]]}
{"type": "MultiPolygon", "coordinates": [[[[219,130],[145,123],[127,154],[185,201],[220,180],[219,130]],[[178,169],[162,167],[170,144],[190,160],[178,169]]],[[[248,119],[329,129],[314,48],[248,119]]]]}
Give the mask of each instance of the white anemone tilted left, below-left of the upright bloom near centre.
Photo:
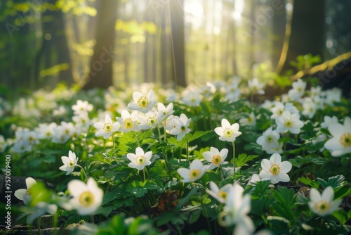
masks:
{"type": "Polygon", "coordinates": [[[177,172],[183,177],[183,179],[180,180],[181,182],[190,183],[200,179],[205,174],[206,170],[208,170],[208,166],[202,165],[201,160],[195,159],[190,163],[189,169],[179,168],[177,172]]]}

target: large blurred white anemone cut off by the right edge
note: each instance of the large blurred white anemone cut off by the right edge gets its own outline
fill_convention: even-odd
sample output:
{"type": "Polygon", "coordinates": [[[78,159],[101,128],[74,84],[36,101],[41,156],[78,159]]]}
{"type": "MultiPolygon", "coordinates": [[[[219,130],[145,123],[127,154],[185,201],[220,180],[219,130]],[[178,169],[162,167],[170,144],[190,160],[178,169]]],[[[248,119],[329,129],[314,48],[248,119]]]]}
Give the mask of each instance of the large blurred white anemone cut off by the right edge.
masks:
{"type": "Polygon", "coordinates": [[[324,148],[331,151],[333,157],[351,153],[351,118],[346,117],[344,125],[331,123],[328,130],[333,136],[324,144],[324,148]]]}

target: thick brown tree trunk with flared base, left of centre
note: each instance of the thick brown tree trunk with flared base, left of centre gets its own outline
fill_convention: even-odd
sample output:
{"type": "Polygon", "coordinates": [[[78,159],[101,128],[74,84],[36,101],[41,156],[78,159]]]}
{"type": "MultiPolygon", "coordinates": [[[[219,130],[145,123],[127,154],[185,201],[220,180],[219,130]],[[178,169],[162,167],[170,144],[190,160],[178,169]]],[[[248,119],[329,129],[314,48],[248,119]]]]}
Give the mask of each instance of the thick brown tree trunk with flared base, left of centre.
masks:
{"type": "Polygon", "coordinates": [[[112,64],[114,59],[114,24],[117,19],[117,1],[100,1],[95,30],[95,49],[91,68],[83,89],[112,86],[112,64]]]}

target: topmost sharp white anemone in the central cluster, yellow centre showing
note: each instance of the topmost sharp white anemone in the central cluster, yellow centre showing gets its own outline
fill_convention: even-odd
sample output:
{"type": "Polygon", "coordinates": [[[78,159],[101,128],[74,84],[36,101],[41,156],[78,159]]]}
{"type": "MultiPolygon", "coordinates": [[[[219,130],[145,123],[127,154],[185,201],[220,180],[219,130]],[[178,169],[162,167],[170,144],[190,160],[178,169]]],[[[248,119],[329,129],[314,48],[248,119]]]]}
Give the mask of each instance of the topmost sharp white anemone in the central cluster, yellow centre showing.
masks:
{"type": "Polygon", "coordinates": [[[141,113],[149,112],[150,109],[156,104],[153,89],[150,89],[146,96],[139,91],[134,91],[133,100],[133,102],[128,103],[128,108],[131,110],[140,111],[141,113]]]}

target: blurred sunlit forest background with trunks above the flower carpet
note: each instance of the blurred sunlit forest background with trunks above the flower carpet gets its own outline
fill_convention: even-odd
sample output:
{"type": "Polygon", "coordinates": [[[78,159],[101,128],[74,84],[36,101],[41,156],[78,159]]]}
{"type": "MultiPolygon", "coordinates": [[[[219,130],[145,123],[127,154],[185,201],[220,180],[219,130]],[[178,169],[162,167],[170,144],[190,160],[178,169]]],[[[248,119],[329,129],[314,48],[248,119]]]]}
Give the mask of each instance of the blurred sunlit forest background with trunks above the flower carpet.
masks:
{"type": "Polygon", "coordinates": [[[343,0],[1,0],[0,81],[13,91],[267,82],[351,51],[350,8],[343,0]]]}

